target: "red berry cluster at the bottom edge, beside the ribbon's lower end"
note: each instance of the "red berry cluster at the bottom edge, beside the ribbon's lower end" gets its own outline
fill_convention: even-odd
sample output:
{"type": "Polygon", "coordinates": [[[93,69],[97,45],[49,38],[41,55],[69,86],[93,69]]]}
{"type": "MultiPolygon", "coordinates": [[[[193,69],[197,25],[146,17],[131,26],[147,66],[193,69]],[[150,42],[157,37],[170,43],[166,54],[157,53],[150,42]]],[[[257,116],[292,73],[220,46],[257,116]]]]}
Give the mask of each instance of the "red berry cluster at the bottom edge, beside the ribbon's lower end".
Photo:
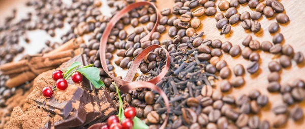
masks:
{"type": "Polygon", "coordinates": [[[107,120],[107,125],[104,125],[101,129],[132,129],[132,119],[136,116],[136,109],[134,107],[128,107],[124,111],[126,119],[119,123],[119,119],[116,115],[111,115],[107,120]]]}

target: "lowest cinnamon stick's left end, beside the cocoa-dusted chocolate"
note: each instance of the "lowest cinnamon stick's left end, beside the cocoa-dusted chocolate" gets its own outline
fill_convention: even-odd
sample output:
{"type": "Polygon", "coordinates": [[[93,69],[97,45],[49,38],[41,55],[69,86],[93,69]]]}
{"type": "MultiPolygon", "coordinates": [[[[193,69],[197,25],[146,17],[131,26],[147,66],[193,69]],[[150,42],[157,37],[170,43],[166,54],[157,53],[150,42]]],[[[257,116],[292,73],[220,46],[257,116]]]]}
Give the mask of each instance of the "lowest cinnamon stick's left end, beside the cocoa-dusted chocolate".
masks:
{"type": "Polygon", "coordinates": [[[7,88],[14,88],[20,84],[23,84],[25,81],[34,79],[35,77],[36,77],[36,74],[34,74],[33,72],[30,72],[30,71],[23,72],[23,73],[19,74],[18,76],[8,79],[5,83],[5,85],[7,88]]]}

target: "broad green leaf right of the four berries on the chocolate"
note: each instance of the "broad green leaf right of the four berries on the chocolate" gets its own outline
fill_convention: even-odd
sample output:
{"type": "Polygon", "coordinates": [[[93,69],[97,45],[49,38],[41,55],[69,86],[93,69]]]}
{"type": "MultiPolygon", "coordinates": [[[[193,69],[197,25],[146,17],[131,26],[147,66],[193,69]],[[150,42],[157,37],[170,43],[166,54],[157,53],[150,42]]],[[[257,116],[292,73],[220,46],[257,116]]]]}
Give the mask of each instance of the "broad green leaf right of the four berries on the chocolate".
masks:
{"type": "Polygon", "coordinates": [[[78,68],[77,71],[83,74],[96,89],[105,88],[105,84],[100,78],[100,70],[97,67],[78,68]]]}

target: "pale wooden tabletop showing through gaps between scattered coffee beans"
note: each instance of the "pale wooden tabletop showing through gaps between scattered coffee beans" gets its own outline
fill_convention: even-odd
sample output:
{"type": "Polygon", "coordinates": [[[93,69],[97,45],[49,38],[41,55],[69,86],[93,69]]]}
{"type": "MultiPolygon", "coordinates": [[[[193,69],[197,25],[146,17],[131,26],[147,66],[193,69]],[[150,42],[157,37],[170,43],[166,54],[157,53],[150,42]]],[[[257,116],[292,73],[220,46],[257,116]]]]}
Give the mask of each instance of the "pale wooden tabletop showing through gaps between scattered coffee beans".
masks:
{"type": "MultiPolygon", "coordinates": [[[[230,1],[230,0],[227,0],[230,1]]],[[[216,5],[220,0],[216,2],[216,5]]],[[[264,1],[260,1],[264,2],[264,1]]],[[[3,24],[3,20],[5,16],[8,16],[11,14],[11,9],[18,7],[18,17],[19,15],[22,17],[24,16],[27,11],[33,11],[29,8],[24,7],[25,1],[21,0],[12,0],[12,1],[6,1],[6,0],[0,0],[0,24],[3,24]],[[22,10],[22,11],[20,11],[22,10]]],[[[289,16],[290,22],[286,24],[280,24],[280,31],[284,35],[284,42],[283,44],[289,44],[294,48],[295,52],[302,52],[305,54],[305,35],[303,32],[305,31],[305,1],[296,1],[296,0],[282,0],[281,3],[285,7],[285,13],[289,16]]],[[[168,1],[161,1],[157,0],[157,7],[161,11],[164,8],[170,8],[172,9],[174,4],[174,0],[168,0],[168,1]]],[[[109,16],[109,8],[107,7],[107,4],[103,0],[103,7],[101,8],[102,13],[109,16]]],[[[194,9],[193,9],[194,10],[194,9]]],[[[193,11],[192,10],[192,11],[193,11]]],[[[250,13],[254,12],[253,9],[250,9],[247,4],[239,5],[237,8],[238,13],[242,13],[244,11],[248,11],[250,13]]],[[[217,8],[218,12],[225,13],[225,11],[220,11],[217,8]]],[[[171,17],[171,16],[169,16],[171,17]]],[[[215,20],[214,16],[201,16],[199,17],[201,20],[201,25],[196,29],[196,32],[204,32],[204,39],[220,39],[223,42],[224,41],[230,41],[233,45],[239,45],[241,49],[245,48],[241,45],[241,42],[243,38],[245,38],[248,34],[251,34],[253,36],[253,39],[256,39],[260,42],[264,40],[268,40],[272,42],[272,36],[274,34],[270,34],[268,32],[268,26],[272,22],[276,22],[275,16],[272,18],[266,18],[265,16],[262,16],[261,19],[259,19],[259,22],[261,23],[262,29],[258,33],[253,33],[249,30],[245,30],[241,27],[240,22],[232,25],[231,32],[226,35],[220,35],[220,30],[216,28],[217,21],[215,20]]],[[[169,27],[167,27],[166,30],[168,30],[169,27]]],[[[127,26],[125,29],[128,32],[132,32],[132,27],[127,26]]],[[[46,39],[50,39],[52,41],[60,41],[58,37],[60,37],[60,33],[65,33],[69,30],[69,26],[65,24],[64,29],[56,29],[56,37],[52,38],[49,35],[46,34],[45,31],[35,30],[28,32],[29,39],[31,40],[31,44],[25,44],[24,42],[21,44],[22,46],[25,46],[25,52],[23,54],[20,54],[15,61],[17,61],[22,55],[24,54],[35,54],[39,52],[39,50],[42,47],[45,47],[44,42],[46,39]],[[39,36],[38,36],[39,35],[39,36]],[[41,36],[44,35],[44,36],[41,36]],[[37,37],[44,37],[44,38],[37,38],[37,37]],[[34,47],[35,46],[35,47],[34,47]]],[[[85,38],[86,36],[84,36],[85,38]]],[[[160,38],[160,40],[170,38],[166,32],[164,32],[160,38]]],[[[261,120],[267,119],[269,120],[270,124],[272,124],[272,119],[276,117],[275,114],[272,113],[271,109],[273,106],[283,103],[282,96],[279,93],[269,93],[266,89],[268,80],[267,75],[270,73],[268,69],[268,62],[271,60],[279,60],[279,55],[273,55],[270,53],[266,53],[263,51],[258,51],[260,54],[260,69],[257,73],[251,75],[248,72],[246,72],[243,77],[246,80],[246,84],[242,87],[236,89],[233,88],[228,94],[233,94],[235,97],[237,97],[240,94],[248,94],[249,91],[253,89],[257,89],[261,92],[261,94],[268,95],[269,97],[269,103],[267,106],[261,109],[260,113],[258,114],[261,118],[261,120]]],[[[116,55],[114,55],[116,57],[116,55]]],[[[115,58],[114,58],[115,59],[115,58]]],[[[244,67],[247,67],[250,63],[249,60],[243,59],[241,56],[237,56],[232,58],[230,55],[224,53],[224,55],[221,57],[221,59],[226,60],[229,67],[232,69],[236,64],[242,64],[244,67]]],[[[112,60],[112,64],[114,60],[112,60]]],[[[292,66],[286,69],[281,70],[281,84],[285,83],[291,83],[294,79],[300,78],[305,80],[305,63],[297,65],[294,61],[292,62],[292,66]]],[[[115,73],[119,76],[125,76],[126,70],[123,70],[117,66],[115,66],[115,73]]],[[[233,78],[234,74],[232,74],[229,79],[233,78]]],[[[217,85],[219,85],[219,81],[217,81],[217,85]]],[[[217,86],[217,90],[220,88],[217,86]]],[[[305,101],[301,103],[294,104],[290,106],[289,108],[292,108],[296,105],[299,105],[302,107],[303,111],[305,111],[305,101]]],[[[289,118],[287,124],[283,126],[283,128],[305,128],[305,120],[302,118],[301,120],[294,122],[291,118],[289,118]]]]}

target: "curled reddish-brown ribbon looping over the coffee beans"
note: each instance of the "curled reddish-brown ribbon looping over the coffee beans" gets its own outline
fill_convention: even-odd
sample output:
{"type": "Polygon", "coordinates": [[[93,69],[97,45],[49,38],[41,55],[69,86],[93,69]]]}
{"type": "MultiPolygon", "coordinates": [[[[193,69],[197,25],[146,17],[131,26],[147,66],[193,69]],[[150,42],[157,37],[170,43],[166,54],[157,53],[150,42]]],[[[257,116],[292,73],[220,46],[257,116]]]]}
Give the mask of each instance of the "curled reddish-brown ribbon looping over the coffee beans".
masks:
{"type": "Polygon", "coordinates": [[[106,63],[106,48],[107,48],[107,40],[108,37],[110,35],[111,29],[114,27],[114,25],[116,24],[116,22],[123,17],[126,13],[128,13],[129,11],[141,7],[141,6],[145,6],[145,5],[150,5],[152,7],[155,8],[156,13],[157,13],[157,22],[153,28],[153,30],[151,30],[146,36],[144,36],[140,42],[142,43],[143,41],[149,40],[150,36],[155,32],[157,26],[159,25],[159,11],[157,9],[157,7],[151,3],[148,2],[138,2],[138,3],[134,3],[134,4],[130,4],[128,5],[126,8],[124,8],[123,10],[119,11],[118,13],[116,13],[112,19],[107,23],[107,26],[105,28],[105,31],[101,37],[101,42],[100,42],[100,58],[101,58],[101,64],[103,69],[105,70],[105,72],[109,75],[109,77],[111,77],[117,84],[121,85],[121,87],[119,88],[119,90],[123,93],[127,93],[128,91],[132,90],[132,89],[136,89],[136,88],[148,88],[148,89],[153,89],[156,92],[158,92],[160,94],[160,96],[162,96],[162,98],[164,99],[166,108],[167,108],[167,115],[166,118],[161,126],[161,128],[165,128],[167,121],[168,121],[168,116],[169,116],[169,100],[166,96],[166,94],[155,85],[155,83],[157,83],[158,81],[160,81],[165,74],[167,73],[169,66],[170,66],[170,62],[169,62],[169,53],[167,52],[166,49],[162,48],[160,45],[151,45],[147,48],[145,48],[133,61],[133,63],[131,64],[127,75],[124,79],[120,79],[118,77],[112,76],[111,74],[109,74],[109,71],[107,69],[107,63],[106,63]],[[162,72],[154,77],[153,79],[149,80],[149,81],[133,81],[133,78],[136,74],[137,69],[139,68],[139,65],[141,64],[141,61],[144,59],[145,55],[148,54],[150,51],[157,49],[157,48],[162,48],[164,50],[164,52],[166,53],[166,64],[164,65],[164,68],[162,69],[162,72]]]}

